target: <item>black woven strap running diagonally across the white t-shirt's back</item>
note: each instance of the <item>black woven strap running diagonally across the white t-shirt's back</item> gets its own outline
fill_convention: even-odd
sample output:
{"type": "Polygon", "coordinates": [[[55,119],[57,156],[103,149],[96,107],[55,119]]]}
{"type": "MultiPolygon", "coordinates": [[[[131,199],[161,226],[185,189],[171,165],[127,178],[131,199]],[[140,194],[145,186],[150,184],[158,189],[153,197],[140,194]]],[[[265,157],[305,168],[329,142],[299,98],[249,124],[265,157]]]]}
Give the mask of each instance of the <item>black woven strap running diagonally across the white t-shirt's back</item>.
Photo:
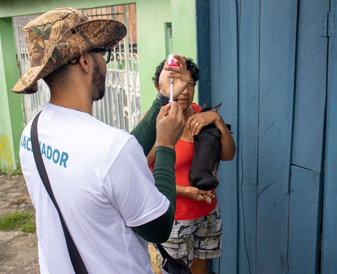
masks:
{"type": "Polygon", "coordinates": [[[48,174],[46,171],[46,167],[45,164],[43,162],[42,159],[42,155],[41,155],[41,150],[40,150],[40,145],[39,145],[39,137],[38,137],[38,119],[40,116],[41,112],[38,113],[38,115],[34,118],[33,120],[33,124],[31,127],[31,141],[32,141],[32,149],[33,149],[33,155],[34,155],[34,159],[35,159],[35,164],[36,167],[38,168],[41,180],[48,192],[48,195],[50,197],[50,199],[52,200],[54,206],[56,207],[56,210],[58,212],[58,215],[60,217],[60,221],[61,221],[61,225],[62,225],[62,229],[63,229],[63,233],[64,233],[64,237],[65,237],[65,241],[67,243],[67,248],[68,248],[68,252],[69,252],[69,257],[71,260],[71,263],[73,265],[74,271],[76,274],[88,274],[88,271],[86,269],[86,266],[83,263],[83,260],[81,258],[80,253],[78,252],[76,245],[73,241],[73,239],[71,238],[69,231],[63,221],[63,217],[62,214],[58,208],[57,202],[55,200],[54,194],[52,193],[52,189],[49,183],[49,179],[48,179],[48,174]]]}

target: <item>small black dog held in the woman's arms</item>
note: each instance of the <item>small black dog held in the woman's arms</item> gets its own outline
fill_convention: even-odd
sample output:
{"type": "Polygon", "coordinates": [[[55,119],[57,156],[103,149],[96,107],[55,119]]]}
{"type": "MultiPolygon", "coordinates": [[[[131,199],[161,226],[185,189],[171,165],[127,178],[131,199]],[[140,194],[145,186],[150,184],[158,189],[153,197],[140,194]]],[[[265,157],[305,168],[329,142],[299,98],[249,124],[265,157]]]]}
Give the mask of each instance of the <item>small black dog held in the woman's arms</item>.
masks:
{"type": "MultiPolygon", "coordinates": [[[[221,103],[214,108],[204,108],[201,112],[216,112],[221,103]]],[[[216,176],[221,157],[221,132],[213,124],[204,126],[194,135],[194,155],[190,169],[190,185],[199,190],[209,191],[219,185],[216,176]]],[[[213,194],[202,195],[208,204],[215,198],[213,194]]]]}

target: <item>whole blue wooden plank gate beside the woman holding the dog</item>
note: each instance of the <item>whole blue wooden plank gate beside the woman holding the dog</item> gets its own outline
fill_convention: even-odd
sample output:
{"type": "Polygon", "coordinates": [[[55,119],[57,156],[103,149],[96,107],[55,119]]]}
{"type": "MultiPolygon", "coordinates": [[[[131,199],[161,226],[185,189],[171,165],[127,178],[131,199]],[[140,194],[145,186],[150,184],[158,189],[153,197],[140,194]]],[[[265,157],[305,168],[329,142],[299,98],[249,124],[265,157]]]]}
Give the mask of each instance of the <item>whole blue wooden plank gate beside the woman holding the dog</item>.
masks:
{"type": "MultiPolygon", "coordinates": [[[[222,102],[219,113],[232,125],[237,146],[236,158],[218,171],[223,251],[213,272],[320,273],[321,261],[333,260],[320,253],[326,100],[333,88],[327,87],[332,37],[322,31],[328,28],[324,16],[333,10],[330,1],[198,4],[203,12],[209,8],[210,30],[209,52],[198,48],[198,64],[210,70],[208,85],[200,78],[199,103],[222,102]]],[[[204,22],[203,16],[199,24],[204,22]]],[[[333,99],[330,115],[336,112],[333,99]]],[[[329,157],[337,164],[334,145],[329,157]]],[[[336,196],[333,201],[337,205],[336,196]]]]}

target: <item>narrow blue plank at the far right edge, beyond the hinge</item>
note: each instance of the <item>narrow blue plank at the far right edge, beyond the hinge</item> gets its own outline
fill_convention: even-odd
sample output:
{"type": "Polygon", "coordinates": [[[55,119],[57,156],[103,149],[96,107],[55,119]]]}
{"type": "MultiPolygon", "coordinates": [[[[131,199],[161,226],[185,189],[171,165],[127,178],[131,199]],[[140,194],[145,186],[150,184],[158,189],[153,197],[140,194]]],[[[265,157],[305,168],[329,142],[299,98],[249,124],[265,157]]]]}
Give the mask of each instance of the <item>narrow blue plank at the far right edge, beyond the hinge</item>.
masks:
{"type": "MultiPolygon", "coordinates": [[[[334,28],[337,30],[337,4],[331,1],[334,28]]],[[[322,274],[337,273],[337,39],[329,38],[327,127],[325,151],[325,181],[323,201],[322,274]]]]}

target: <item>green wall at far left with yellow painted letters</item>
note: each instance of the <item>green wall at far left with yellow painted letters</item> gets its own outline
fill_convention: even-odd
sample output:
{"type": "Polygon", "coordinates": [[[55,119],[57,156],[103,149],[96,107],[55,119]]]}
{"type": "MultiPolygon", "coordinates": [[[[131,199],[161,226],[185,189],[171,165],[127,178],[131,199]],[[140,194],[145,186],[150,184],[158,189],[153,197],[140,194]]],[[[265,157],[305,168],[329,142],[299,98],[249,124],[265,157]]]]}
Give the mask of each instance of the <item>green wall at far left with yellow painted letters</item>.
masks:
{"type": "Polygon", "coordinates": [[[0,169],[20,166],[19,142],[23,129],[21,96],[10,91],[17,79],[11,18],[0,18],[0,169]]]}

